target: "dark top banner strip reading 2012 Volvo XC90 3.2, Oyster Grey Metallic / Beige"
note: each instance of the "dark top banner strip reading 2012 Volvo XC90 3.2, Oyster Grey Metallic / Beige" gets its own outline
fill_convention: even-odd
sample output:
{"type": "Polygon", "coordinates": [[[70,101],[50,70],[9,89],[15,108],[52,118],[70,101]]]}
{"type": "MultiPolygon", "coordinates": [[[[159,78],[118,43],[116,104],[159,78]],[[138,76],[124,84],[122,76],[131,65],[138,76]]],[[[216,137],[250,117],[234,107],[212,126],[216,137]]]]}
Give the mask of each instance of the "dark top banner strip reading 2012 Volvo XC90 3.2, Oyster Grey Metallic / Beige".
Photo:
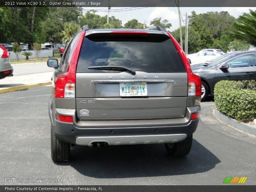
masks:
{"type": "Polygon", "coordinates": [[[0,0],[1,7],[255,7],[255,0],[0,0]]]}

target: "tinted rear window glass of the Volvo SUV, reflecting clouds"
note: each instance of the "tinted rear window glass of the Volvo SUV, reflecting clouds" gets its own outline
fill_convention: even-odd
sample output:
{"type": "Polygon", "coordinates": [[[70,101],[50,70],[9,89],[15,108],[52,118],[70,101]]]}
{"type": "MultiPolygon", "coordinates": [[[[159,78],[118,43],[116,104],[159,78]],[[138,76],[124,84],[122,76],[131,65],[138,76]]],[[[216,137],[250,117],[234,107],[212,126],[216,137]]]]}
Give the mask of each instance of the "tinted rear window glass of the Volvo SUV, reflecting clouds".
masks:
{"type": "Polygon", "coordinates": [[[124,37],[93,35],[84,38],[77,73],[119,73],[88,69],[96,66],[122,66],[148,73],[186,72],[169,36],[124,37]]]}

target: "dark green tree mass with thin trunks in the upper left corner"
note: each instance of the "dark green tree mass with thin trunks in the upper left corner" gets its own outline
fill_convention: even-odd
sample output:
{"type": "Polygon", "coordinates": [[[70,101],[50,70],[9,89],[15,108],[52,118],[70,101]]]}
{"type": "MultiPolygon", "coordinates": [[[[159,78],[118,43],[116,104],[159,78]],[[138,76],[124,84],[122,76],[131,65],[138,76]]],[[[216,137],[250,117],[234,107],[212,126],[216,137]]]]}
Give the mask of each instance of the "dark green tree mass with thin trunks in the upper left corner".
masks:
{"type": "Polygon", "coordinates": [[[0,8],[0,42],[23,42],[31,46],[31,42],[42,35],[41,23],[47,11],[48,7],[0,8]]]}

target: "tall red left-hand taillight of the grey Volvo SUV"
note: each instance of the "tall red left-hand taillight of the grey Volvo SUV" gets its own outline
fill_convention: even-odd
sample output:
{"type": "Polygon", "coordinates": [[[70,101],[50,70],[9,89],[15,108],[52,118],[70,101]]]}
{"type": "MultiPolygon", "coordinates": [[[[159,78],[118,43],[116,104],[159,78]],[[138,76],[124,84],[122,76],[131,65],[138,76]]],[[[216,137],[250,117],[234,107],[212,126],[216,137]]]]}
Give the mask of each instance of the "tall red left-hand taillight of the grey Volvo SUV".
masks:
{"type": "Polygon", "coordinates": [[[67,72],[57,77],[55,81],[55,98],[65,98],[65,85],[76,83],[76,65],[80,49],[84,40],[85,31],[82,31],[76,41],[75,48],[67,68],[67,72]]]}

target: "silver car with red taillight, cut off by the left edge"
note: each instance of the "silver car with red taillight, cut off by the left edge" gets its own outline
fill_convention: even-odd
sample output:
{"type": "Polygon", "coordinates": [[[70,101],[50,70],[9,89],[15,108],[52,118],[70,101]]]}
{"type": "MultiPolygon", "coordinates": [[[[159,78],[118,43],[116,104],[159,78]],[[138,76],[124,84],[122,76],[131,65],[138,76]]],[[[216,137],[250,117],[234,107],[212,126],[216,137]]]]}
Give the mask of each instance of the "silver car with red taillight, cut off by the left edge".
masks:
{"type": "Polygon", "coordinates": [[[13,68],[10,63],[8,51],[0,45],[0,79],[12,76],[13,68]]]}

